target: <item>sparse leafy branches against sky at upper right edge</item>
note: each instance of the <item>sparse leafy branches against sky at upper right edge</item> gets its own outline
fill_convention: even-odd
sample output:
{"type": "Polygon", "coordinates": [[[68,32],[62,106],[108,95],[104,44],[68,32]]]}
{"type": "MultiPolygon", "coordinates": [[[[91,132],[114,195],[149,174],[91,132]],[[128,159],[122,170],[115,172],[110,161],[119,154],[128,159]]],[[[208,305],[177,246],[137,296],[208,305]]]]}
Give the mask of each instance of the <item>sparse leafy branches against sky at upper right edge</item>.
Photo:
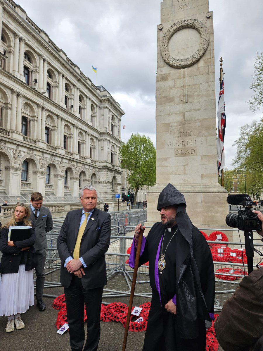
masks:
{"type": "Polygon", "coordinates": [[[248,101],[249,108],[255,112],[263,107],[263,53],[257,52],[255,64],[255,72],[252,75],[252,83],[250,88],[254,91],[251,100],[248,101]]]}

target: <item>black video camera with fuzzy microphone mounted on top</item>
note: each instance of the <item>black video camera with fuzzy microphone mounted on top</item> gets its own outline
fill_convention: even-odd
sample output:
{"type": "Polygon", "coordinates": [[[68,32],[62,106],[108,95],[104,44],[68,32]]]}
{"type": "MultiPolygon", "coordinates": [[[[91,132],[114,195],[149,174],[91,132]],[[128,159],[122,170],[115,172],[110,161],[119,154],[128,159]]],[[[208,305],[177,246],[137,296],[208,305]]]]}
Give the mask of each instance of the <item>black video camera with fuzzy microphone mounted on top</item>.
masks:
{"type": "Polygon", "coordinates": [[[243,231],[261,230],[262,223],[257,218],[256,213],[252,212],[251,207],[256,206],[256,201],[252,201],[247,194],[229,195],[227,203],[230,205],[238,205],[245,207],[239,210],[238,214],[229,213],[225,218],[225,222],[229,227],[238,228],[243,231]]]}

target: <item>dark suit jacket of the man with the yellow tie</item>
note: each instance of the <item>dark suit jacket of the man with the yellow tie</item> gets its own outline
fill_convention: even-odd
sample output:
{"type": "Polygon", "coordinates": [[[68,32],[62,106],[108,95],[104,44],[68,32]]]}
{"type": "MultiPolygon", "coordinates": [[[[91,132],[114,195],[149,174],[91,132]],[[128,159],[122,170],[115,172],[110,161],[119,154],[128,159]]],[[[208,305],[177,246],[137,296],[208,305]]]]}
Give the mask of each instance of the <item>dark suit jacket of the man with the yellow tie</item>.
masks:
{"type": "MultiPolygon", "coordinates": [[[[79,231],[81,210],[69,211],[58,236],[57,248],[61,259],[60,282],[69,287],[73,273],[64,267],[67,257],[73,257],[73,251],[79,231]]],[[[83,233],[80,243],[80,257],[87,265],[82,279],[84,289],[94,289],[107,284],[106,262],[104,253],[110,243],[110,214],[94,209],[83,233]]]]}

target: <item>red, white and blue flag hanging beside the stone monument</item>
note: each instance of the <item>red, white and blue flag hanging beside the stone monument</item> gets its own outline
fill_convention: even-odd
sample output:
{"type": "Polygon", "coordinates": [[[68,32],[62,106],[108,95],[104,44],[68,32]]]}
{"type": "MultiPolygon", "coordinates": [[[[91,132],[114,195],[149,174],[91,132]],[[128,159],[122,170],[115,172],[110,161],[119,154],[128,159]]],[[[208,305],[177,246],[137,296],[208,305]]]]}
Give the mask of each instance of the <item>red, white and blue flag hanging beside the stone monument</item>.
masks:
{"type": "Polygon", "coordinates": [[[218,135],[217,135],[217,172],[221,177],[221,170],[225,165],[224,138],[225,138],[225,101],[224,101],[224,73],[220,84],[219,100],[218,100],[218,135]]]}

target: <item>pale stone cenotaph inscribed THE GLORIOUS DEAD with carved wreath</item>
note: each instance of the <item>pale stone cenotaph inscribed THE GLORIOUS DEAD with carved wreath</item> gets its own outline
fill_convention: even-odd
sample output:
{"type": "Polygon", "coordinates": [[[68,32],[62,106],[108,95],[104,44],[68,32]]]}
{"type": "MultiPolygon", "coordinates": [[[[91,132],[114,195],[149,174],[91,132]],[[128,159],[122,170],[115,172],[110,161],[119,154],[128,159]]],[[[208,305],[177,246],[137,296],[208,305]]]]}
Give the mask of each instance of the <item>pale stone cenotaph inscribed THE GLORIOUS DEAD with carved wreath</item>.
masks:
{"type": "MultiPolygon", "coordinates": [[[[220,66],[218,64],[219,84],[220,66]]],[[[157,26],[156,185],[147,224],[160,221],[162,189],[173,184],[199,228],[226,228],[227,191],[217,181],[213,13],[208,0],[163,0],[157,26]]]]}

